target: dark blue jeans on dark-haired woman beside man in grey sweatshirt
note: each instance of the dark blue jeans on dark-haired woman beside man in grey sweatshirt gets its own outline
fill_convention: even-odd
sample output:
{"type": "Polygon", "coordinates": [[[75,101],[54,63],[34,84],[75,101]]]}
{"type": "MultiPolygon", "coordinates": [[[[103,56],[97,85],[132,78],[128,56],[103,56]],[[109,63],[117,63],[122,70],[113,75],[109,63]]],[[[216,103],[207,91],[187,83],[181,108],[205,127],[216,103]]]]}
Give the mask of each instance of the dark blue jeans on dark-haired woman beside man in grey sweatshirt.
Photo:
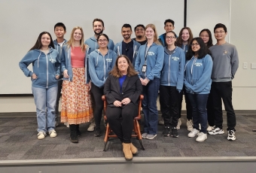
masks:
{"type": "Polygon", "coordinates": [[[194,129],[199,129],[199,123],[201,124],[200,132],[206,133],[207,129],[207,99],[209,94],[190,94],[187,93],[188,99],[192,105],[192,117],[194,123],[194,129]]]}

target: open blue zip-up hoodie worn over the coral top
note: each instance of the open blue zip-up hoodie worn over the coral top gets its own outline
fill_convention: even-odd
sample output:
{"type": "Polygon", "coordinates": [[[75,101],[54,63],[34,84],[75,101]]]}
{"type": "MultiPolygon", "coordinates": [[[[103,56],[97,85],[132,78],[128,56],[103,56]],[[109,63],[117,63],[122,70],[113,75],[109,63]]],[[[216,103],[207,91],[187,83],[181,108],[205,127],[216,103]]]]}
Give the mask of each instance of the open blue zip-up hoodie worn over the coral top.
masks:
{"type": "MultiPolygon", "coordinates": [[[[72,72],[72,63],[71,63],[71,48],[67,49],[68,45],[65,44],[62,46],[62,56],[61,56],[61,71],[63,72],[64,70],[68,70],[69,78],[63,77],[63,80],[73,80],[73,72],[72,72]]],[[[84,56],[84,68],[85,68],[85,74],[84,78],[86,83],[89,83],[90,81],[90,74],[89,74],[89,69],[88,69],[88,59],[89,59],[89,54],[90,54],[90,47],[87,47],[85,50],[85,56],[84,56]]]]}

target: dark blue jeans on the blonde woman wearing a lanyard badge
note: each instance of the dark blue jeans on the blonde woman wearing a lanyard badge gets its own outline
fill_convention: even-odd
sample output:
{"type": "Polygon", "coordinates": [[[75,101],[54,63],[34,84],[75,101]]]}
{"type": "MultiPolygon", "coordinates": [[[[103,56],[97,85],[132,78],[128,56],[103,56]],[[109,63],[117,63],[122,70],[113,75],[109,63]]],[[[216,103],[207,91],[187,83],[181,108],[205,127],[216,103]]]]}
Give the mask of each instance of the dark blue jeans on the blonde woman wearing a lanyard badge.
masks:
{"type": "Polygon", "coordinates": [[[144,114],[144,132],[150,135],[157,134],[157,96],[160,86],[160,79],[154,78],[143,86],[144,99],[142,100],[142,111],[144,114]]]}

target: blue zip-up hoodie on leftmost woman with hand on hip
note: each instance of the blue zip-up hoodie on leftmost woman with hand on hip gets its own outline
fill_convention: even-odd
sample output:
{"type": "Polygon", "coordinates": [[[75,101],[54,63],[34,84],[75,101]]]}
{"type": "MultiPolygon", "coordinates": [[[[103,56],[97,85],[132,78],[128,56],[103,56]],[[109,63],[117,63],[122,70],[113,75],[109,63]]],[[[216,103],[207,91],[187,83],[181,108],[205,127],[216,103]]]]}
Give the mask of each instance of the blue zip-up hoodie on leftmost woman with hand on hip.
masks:
{"type": "Polygon", "coordinates": [[[50,47],[47,55],[38,49],[29,50],[26,56],[21,59],[19,65],[23,73],[27,77],[31,77],[33,87],[50,88],[57,86],[58,80],[55,76],[60,74],[59,53],[52,47],[50,47]],[[31,63],[33,71],[28,68],[31,63]],[[35,73],[37,79],[32,79],[33,73],[35,73]]]}

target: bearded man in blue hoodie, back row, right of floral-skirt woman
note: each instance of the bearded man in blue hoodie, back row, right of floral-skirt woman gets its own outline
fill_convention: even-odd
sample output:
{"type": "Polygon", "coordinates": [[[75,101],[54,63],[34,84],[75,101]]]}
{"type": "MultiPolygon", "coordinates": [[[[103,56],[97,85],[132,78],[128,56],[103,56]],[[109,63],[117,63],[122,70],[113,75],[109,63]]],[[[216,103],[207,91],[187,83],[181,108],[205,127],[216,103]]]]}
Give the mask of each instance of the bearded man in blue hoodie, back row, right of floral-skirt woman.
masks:
{"type": "MultiPolygon", "coordinates": [[[[91,52],[93,52],[93,50],[99,49],[99,44],[97,43],[96,39],[104,31],[104,29],[105,27],[103,20],[98,18],[93,20],[94,35],[84,42],[84,44],[87,44],[90,47],[91,52]]],[[[108,41],[108,49],[114,50],[114,42],[111,39],[108,41]]]]}

